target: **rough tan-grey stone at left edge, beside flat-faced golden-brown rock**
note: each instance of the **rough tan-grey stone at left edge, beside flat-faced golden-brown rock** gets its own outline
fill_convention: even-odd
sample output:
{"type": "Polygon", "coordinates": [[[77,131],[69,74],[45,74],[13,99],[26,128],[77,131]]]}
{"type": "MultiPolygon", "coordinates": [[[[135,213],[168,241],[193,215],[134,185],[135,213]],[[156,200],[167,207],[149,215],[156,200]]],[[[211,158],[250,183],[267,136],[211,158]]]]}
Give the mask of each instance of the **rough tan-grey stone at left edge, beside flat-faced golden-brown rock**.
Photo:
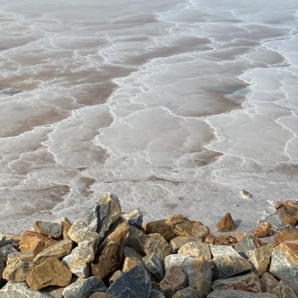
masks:
{"type": "Polygon", "coordinates": [[[2,277],[9,282],[24,282],[34,266],[32,262],[16,260],[5,267],[2,277]]]}

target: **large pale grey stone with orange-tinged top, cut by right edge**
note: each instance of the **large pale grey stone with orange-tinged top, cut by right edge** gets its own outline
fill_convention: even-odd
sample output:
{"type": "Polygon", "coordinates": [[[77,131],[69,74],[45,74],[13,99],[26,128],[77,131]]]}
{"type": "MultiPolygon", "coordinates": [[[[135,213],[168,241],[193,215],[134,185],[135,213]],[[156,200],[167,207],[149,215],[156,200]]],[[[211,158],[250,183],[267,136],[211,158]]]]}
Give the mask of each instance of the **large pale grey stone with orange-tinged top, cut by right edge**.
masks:
{"type": "Polygon", "coordinates": [[[285,243],[275,247],[271,255],[270,273],[292,283],[298,292],[298,251],[285,243]]]}

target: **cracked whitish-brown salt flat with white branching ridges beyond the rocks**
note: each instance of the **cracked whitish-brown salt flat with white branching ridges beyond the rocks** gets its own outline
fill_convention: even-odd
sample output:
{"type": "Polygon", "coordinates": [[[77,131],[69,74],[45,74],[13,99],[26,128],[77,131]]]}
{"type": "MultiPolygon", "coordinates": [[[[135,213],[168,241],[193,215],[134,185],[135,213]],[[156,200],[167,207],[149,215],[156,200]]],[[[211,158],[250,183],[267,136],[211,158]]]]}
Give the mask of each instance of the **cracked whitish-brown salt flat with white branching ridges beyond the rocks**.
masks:
{"type": "Polygon", "coordinates": [[[0,0],[1,230],[105,192],[238,231],[297,199],[297,1],[54,3],[0,0]]]}

